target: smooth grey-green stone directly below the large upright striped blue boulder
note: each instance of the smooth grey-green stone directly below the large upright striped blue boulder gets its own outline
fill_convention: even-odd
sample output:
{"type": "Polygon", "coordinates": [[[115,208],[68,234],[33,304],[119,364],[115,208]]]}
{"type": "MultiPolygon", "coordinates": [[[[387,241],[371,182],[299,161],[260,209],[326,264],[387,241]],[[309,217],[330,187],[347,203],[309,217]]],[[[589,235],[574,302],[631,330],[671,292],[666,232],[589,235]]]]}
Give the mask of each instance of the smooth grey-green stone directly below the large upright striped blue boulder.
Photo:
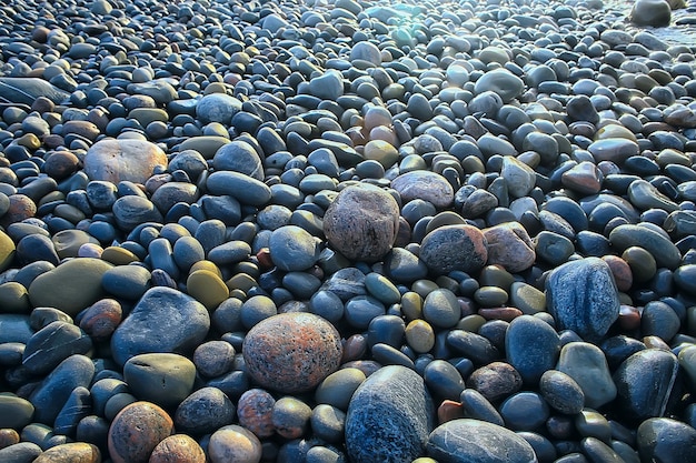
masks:
{"type": "Polygon", "coordinates": [[[570,342],[560,350],[556,370],[573,378],[585,394],[586,406],[599,409],[616,397],[607,360],[599,348],[586,342],[570,342]]]}

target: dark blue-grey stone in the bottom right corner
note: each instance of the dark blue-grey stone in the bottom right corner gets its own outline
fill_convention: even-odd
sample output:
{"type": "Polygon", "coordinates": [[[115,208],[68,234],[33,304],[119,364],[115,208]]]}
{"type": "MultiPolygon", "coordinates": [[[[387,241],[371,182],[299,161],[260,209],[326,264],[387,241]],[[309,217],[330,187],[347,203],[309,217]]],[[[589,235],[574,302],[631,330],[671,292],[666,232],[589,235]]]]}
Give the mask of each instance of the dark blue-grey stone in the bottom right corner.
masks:
{"type": "Polygon", "coordinates": [[[645,420],[636,434],[642,461],[688,461],[696,449],[696,430],[668,417],[645,420]]]}

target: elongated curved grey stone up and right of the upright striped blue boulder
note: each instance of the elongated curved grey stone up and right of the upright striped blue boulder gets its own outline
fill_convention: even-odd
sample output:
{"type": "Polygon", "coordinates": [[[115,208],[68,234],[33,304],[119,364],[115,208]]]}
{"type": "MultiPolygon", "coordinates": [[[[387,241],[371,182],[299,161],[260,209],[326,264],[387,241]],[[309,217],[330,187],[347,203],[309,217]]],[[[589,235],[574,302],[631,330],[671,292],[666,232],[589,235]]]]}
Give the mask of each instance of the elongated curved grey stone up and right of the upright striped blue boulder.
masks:
{"type": "Polygon", "coordinates": [[[609,242],[619,251],[632,246],[645,249],[655,259],[658,266],[675,270],[679,266],[680,256],[677,246],[664,234],[640,225],[618,225],[609,233],[609,242]]]}

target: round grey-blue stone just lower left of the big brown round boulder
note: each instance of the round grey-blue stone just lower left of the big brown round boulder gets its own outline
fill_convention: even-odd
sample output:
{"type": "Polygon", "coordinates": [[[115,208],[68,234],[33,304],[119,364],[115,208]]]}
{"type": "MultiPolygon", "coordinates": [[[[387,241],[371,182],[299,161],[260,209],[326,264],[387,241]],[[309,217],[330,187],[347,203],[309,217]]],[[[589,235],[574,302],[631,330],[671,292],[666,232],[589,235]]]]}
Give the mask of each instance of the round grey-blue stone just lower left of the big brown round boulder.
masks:
{"type": "Polygon", "coordinates": [[[319,258],[316,239],[297,225],[274,230],[268,248],[274,264],[286,272],[307,270],[319,258]]]}

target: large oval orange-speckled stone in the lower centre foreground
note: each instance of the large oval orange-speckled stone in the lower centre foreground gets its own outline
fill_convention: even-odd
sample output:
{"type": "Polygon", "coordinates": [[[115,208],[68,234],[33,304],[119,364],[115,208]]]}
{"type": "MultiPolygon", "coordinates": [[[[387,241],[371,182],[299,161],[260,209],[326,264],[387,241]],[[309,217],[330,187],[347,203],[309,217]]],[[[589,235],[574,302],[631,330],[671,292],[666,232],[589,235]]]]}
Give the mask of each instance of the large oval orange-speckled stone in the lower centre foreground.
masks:
{"type": "Polygon", "coordinates": [[[242,354],[264,387],[297,393],[314,389],[339,365],[340,334],[321,316],[295,312],[270,316],[245,336],[242,354]]]}

